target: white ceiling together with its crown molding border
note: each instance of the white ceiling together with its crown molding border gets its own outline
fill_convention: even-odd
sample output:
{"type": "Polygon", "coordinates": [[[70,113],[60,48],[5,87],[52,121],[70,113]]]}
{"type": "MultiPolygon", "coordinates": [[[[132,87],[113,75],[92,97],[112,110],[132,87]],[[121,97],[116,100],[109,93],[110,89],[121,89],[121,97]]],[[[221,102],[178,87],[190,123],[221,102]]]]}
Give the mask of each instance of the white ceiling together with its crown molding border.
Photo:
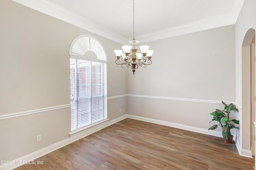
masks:
{"type": "MultiPolygon", "coordinates": [[[[110,40],[133,38],[132,0],[12,0],[110,40]]],[[[149,42],[235,24],[244,0],[134,0],[135,39],[149,42]]]]}

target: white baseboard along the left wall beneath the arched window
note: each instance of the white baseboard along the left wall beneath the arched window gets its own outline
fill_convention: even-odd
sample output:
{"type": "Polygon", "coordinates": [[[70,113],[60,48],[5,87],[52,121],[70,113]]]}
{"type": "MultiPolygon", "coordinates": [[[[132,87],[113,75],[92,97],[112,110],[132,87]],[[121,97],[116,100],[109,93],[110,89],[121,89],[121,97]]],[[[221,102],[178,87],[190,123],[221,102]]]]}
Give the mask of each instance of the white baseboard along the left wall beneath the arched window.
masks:
{"type": "MultiPolygon", "coordinates": [[[[112,121],[108,121],[108,122],[106,122],[106,123],[103,123],[103,124],[101,124],[101,125],[98,125],[98,126],[89,128],[89,129],[87,129],[86,131],[84,131],[84,132],[82,132],[82,133],[80,133],[80,134],[77,134],[77,135],[72,136],[72,137],[70,137],[70,138],[64,139],[64,140],[62,140],[62,141],[60,141],[60,142],[57,142],[57,143],[55,143],[55,144],[52,144],[52,145],[50,145],[50,146],[47,146],[47,147],[45,147],[45,148],[42,148],[42,149],[40,149],[40,150],[37,150],[37,151],[35,151],[35,152],[32,152],[32,153],[30,153],[30,154],[27,154],[27,155],[25,155],[25,156],[22,156],[22,157],[20,157],[20,158],[17,158],[16,160],[14,160],[14,162],[16,162],[16,161],[17,161],[17,162],[19,162],[19,161],[22,162],[22,160],[23,160],[23,161],[25,161],[25,160],[26,160],[26,161],[35,160],[35,159],[37,159],[37,158],[40,158],[41,156],[44,156],[45,154],[48,154],[48,153],[50,153],[50,152],[52,152],[52,151],[54,151],[54,150],[57,150],[57,149],[59,149],[59,148],[61,148],[61,147],[63,147],[63,146],[66,146],[67,144],[70,144],[70,143],[72,143],[72,142],[75,142],[76,140],[79,140],[79,139],[81,139],[81,138],[84,138],[85,136],[88,136],[88,135],[90,135],[90,134],[92,134],[92,133],[94,133],[94,132],[97,132],[98,130],[101,130],[101,129],[103,129],[103,128],[106,128],[106,127],[108,127],[108,126],[114,124],[114,123],[117,123],[117,122],[119,122],[119,121],[122,121],[122,120],[125,119],[125,118],[126,118],[126,115],[124,115],[124,116],[122,116],[122,117],[118,117],[118,118],[116,118],[116,119],[114,119],[114,120],[112,120],[112,121]]],[[[1,165],[1,166],[0,166],[0,170],[10,170],[10,169],[17,168],[18,166],[21,166],[21,164],[4,164],[4,165],[1,165]]]]}

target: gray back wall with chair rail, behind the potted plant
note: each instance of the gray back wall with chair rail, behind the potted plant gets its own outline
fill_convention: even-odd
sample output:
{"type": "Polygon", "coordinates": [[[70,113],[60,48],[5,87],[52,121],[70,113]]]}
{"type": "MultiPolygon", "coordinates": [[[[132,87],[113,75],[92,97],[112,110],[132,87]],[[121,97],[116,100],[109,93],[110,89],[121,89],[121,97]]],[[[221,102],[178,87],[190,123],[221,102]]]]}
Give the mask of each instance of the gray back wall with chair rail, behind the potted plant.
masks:
{"type": "Polygon", "coordinates": [[[208,129],[216,103],[235,101],[234,28],[146,43],[153,63],[128,74],[128,113],[208,129]]]}

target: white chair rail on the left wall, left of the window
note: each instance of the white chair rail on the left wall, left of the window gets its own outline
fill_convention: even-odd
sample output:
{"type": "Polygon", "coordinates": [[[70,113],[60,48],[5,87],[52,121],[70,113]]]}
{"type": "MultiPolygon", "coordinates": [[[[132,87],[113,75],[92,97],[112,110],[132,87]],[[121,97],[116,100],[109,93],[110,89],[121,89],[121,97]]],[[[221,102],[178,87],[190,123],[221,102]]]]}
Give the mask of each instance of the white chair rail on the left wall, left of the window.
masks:
{"type": "Polygon", "coordinates": [[[42,112],[46,112],[46,111],[53,111],[53,110],[57,110],[57,109],[67,108],[67,107],[70,107],[70,104],[54,106],[54,107],[46,107],[46,108],[42,108],[42,109],[35,109],[35,110],[30,110],[30,111],[18,112],[18,113],[11,113],[11,114],[6,114],[6,115],[0,115],[0,120],[10,119],[10,118],[14,118],[14,117],[20,117],[20,116],[25,116],[25,115],[32,115],[35,113],[42,113],[42,112]]]}

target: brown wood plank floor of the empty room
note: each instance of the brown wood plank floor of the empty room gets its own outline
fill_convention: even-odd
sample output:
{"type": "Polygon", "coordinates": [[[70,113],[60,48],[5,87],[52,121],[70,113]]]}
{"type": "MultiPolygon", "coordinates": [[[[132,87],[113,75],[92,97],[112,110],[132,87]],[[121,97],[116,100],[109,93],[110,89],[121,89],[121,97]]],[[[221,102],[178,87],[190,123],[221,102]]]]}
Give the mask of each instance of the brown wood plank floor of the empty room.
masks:
{"type": "Polygon", "coordinates": [[[253,170],[222,138],[124,119],[16,170],[253,170]]]}

